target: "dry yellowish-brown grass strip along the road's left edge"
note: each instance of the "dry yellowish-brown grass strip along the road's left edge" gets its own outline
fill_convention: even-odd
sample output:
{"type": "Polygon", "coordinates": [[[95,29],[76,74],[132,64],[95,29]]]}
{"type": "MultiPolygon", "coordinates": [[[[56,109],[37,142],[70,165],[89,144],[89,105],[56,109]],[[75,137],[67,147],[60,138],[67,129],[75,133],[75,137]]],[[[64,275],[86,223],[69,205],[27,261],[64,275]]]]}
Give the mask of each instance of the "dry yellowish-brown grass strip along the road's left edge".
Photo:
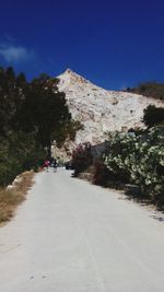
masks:
{"type": "Polygon", "coordinates": [[[27,190],[33,185],[34,172],[25,172],[14,180],[12,187],[0,188],[0,223],[9,221],[16,207],[25,200],[27,190]]]}

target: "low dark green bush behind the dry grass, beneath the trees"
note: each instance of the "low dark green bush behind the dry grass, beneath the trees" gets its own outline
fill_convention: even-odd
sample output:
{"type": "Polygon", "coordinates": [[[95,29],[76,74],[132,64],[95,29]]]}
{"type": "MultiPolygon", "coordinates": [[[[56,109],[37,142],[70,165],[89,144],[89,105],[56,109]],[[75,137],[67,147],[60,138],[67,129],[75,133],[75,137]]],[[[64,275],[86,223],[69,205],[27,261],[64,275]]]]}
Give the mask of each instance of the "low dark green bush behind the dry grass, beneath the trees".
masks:
{"type": "Polygon", "coordinates": [[[33,133],[10,133],[0,144],[0,186],[11,184],[16,175],[43,164],[45,151],[33,133]]]}

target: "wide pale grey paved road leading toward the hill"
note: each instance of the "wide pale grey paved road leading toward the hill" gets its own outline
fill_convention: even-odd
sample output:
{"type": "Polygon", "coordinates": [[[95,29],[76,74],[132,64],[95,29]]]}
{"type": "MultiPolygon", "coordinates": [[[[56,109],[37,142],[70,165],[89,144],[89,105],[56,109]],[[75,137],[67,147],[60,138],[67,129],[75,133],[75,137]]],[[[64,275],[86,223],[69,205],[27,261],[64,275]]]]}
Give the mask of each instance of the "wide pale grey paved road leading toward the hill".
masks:
{"type": "Polygon", "coordinates": [[[0,229],[1,292],[163,292],[164,222],[121,195],[40,173],[0,229]]]}

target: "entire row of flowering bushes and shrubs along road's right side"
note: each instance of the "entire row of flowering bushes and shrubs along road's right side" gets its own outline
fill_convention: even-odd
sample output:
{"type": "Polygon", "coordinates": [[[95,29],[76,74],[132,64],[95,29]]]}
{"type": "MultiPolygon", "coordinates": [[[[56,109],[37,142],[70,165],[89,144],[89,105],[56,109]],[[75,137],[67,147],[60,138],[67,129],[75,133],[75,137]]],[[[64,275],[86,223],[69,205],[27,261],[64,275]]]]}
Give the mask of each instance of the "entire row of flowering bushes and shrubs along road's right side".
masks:
{"type": "Polygon", "coordinates": [[[144,110],[147,128],[109,132],[105,151],[97,159],[87,143],[72,155],[74,175],[90,178],[104,187],[128,187],[128,195],[164,210],[164,113],[149,106],[144,110]],[[156,113],[162,113],[156,119],[156,113]],[[90,175],[89,175],[90,174],[90,175]],[[131,188],[130,188],[131,186],[131,188]]]}

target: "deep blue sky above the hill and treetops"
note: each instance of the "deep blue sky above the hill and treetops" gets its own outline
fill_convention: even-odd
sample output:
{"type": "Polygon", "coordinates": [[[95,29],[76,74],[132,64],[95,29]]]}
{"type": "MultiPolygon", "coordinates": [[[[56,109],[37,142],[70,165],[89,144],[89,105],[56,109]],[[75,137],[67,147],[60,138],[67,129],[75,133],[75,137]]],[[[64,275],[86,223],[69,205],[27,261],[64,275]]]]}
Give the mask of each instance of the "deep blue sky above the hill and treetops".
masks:
{"type": "Polygon", "coordinates": [[[106,89],[164,82],[164,1],[3,0],[0,65],[28,79],[70,68],[106,89]]]}

